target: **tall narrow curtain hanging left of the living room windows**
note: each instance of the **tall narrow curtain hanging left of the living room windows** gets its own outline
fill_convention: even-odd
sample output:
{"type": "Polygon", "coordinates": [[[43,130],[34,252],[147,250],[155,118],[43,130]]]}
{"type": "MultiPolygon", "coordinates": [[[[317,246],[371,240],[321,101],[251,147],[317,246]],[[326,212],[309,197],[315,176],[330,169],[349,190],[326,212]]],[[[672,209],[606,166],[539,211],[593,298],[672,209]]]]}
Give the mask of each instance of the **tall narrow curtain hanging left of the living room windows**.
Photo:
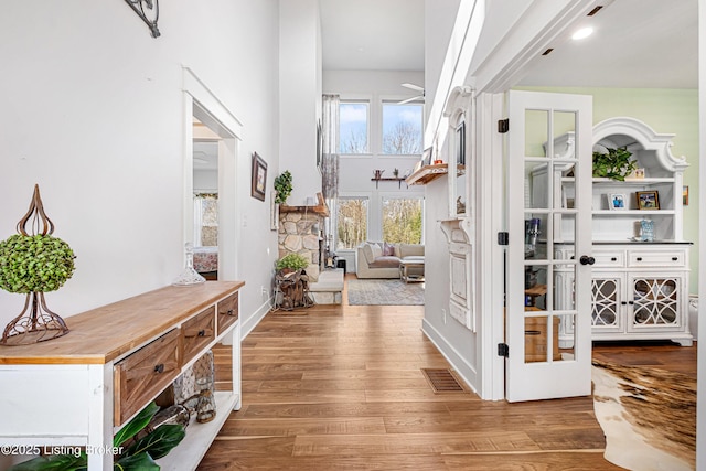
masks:
{"type": "Polygon", "coordinates": [[[321,192],[330,216],[324,220],[324,257],[333,254],[336,200],[339,196],[339,95],[323,95],[321,113],[321,192]]]}

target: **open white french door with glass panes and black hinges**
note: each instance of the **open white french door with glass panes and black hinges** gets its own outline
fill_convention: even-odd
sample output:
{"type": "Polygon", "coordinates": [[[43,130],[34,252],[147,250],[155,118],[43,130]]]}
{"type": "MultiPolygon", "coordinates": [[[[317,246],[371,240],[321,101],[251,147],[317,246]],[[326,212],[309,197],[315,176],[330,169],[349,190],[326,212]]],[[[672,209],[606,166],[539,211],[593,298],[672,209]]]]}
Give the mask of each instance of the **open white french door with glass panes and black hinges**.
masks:
{"type": "Polygon", "coordinates": [[[506,398],[589,395],[592,97],[513,90],[509,110],[506,398]]]}

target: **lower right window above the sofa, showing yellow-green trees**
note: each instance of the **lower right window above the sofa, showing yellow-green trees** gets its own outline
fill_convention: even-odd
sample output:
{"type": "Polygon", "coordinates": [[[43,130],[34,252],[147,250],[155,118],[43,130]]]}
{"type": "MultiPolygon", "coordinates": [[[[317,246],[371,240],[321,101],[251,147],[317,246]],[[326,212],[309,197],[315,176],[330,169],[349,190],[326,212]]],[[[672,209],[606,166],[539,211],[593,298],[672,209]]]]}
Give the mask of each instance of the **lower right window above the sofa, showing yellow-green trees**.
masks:
{"type": "Polygon", "coordinates": [[[422,200],[383,199],[383,240],[391,244],[421,244],[422,200]]]}

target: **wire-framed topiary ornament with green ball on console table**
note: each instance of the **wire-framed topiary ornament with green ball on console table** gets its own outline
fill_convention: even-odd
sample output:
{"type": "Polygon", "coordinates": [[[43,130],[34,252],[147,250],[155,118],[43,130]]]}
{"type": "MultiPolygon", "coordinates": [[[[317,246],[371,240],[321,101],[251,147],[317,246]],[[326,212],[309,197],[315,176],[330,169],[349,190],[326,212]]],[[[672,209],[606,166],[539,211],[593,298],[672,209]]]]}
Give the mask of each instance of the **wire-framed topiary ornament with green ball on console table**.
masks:
{"type": "Polygon", "coordinates": [[[18,233],[0,243],[0,288],[26,295],[24,308],[4,328],[0,345],[26,345],[68,333],[66,322],[49,310],[44,292],[61,288],[74,274],[74,251],[54,237],[39,185],[18,233]]]}

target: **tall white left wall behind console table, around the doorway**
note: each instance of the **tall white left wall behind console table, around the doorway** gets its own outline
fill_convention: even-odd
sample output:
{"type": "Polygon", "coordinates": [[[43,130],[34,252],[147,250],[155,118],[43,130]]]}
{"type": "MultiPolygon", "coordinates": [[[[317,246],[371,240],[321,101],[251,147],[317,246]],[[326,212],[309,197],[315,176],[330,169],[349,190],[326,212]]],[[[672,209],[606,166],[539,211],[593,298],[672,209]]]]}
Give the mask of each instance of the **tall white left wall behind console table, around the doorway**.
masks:
{"type": "MultiPolygon", "coordinates": [[[[169,285],[183,268],[188,65],[243,122],[235,251],[247,321],[264,309],[264,260],[277,255],[269,204],[249,196],[249,181],[253,151],[277,168],[278,2],[160,7],[162,35],[152,39],[125,2],[4,6],[0,238],[14,234],[39,183],[54,234],[77,255],[74,277],[46,295],[50,309],[67,318],[169,285]]],[[[23,301],[0,291],[0,325],[23,301]]]]}

